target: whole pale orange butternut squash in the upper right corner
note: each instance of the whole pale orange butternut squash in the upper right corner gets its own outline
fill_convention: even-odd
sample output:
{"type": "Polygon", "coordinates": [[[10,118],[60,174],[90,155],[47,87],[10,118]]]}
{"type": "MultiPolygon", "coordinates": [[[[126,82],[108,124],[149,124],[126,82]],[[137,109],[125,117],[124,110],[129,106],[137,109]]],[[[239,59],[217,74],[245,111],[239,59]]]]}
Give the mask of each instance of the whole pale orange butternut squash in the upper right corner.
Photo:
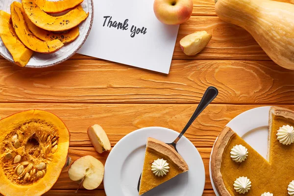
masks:
{"type": "Polygon", "coordinates": [[[247,30],[278,65],[294,70],[294,4],[272,0],[215,0],[221,20],[247,30]]]}

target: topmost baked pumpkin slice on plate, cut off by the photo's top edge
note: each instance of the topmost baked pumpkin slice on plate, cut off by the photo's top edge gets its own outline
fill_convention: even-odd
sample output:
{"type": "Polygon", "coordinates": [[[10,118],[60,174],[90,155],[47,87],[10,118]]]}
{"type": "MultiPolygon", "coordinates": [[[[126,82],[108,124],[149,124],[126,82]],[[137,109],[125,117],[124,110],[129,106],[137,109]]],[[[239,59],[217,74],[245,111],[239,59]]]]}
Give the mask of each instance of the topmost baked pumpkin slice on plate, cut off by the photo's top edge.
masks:
{"type": "Polygon", "coordinates": [[[46,13],[57,14],[81,4],[84,0],[35,0],[36,4],[46,13]]]}

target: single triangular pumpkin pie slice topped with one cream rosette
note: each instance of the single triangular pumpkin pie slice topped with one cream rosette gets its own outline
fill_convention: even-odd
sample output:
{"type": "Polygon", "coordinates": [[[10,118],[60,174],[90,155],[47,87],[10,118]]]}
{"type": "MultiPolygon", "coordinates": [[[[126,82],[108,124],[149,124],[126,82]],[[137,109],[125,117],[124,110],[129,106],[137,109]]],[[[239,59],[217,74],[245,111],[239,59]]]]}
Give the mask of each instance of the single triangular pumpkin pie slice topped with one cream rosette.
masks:
{"type": "Polygon", "coordinates": [[[187,163],[172,147],[159,140],[148,138],[139,195],[188,170],[187,163]]]}

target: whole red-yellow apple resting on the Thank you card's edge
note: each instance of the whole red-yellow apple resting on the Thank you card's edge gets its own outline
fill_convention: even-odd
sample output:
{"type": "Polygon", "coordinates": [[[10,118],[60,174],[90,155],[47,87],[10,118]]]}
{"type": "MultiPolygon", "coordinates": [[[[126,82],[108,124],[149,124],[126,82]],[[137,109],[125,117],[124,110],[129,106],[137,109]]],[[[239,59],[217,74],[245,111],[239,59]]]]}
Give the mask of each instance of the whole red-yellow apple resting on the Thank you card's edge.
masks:
{"type": "Polygon", "coordinates": [[[154,13],[157,19],[167,25],[182,24],[191,17],[192,0],[154,0],[154,13]]]}

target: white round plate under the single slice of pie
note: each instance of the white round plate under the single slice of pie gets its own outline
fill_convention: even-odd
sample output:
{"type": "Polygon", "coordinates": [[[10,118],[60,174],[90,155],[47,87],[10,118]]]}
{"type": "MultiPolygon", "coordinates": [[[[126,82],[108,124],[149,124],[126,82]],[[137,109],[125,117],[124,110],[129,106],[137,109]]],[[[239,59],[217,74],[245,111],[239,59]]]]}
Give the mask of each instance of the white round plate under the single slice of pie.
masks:
{"type": "MultiPolygon", "coordinates": [[[[131,132],[111,150],[105,163],[104,189],[107,196],[139,196],[138,180],[143,169],[148,137],[171,143],[179,133],[163,127],[147,127],[131,132]]],[[[182,173],[144,194],[144,196],[201,196],[205,171],[196,147],[182,137],[176,145],[189,166],[182,173]]]]}

